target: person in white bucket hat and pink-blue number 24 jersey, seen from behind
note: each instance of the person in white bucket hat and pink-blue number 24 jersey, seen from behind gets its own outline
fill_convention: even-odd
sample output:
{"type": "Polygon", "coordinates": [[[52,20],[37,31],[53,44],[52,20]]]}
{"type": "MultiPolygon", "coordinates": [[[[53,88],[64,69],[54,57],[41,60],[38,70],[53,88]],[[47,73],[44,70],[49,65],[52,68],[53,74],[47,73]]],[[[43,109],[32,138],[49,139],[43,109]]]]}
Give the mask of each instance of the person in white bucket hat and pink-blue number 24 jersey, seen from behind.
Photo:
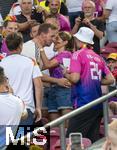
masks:
{"type": "MultiPolygon", "coordinates": [[[[64,70],[64,76],[76,86],[79,108],[101,97],[101,84],[112,84],[114,77],[103,59],[92,50],[94,32],[82,27],[74,37],[78,50],[73,53],[70,70],[64,70]]],[[[72,132],[81,132],[83,137],[97,141],[101,118],[101,104],[71,118],[67,137],[72,132]]]]}

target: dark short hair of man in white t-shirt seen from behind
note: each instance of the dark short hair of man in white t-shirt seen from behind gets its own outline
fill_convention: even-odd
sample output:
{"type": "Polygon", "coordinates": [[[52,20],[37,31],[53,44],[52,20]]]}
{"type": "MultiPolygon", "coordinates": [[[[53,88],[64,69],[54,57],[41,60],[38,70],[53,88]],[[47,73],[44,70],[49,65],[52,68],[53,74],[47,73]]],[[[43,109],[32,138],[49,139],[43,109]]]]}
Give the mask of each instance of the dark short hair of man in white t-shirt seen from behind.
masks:
{"type": "Polygon", "coordinates": [[[11,33],[6,37],[6,44],[9,51],[16,50],[23,43],[23,38],[19,33],[11,33]]]}

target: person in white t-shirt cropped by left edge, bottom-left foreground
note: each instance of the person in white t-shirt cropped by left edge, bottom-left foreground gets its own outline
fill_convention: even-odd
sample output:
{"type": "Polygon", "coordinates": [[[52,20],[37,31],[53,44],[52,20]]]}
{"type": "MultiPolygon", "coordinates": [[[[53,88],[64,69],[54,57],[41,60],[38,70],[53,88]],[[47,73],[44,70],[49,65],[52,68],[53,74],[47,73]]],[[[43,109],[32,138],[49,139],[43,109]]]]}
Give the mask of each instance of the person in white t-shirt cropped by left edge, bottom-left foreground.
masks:
{"type": "Polygon", "coordinates": [[[11,127],[15,135],[24,111],[23,101],[10,92],[4,70],[0,67],[0,150],[6,149],[6,127],[11,127]]]}

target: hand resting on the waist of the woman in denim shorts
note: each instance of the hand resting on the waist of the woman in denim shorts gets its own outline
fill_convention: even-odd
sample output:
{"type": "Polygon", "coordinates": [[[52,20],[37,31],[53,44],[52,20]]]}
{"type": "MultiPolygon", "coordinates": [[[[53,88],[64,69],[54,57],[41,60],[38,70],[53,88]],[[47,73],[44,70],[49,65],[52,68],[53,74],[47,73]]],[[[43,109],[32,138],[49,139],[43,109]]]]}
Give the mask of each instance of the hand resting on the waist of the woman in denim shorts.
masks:
{"type": "Polygon", "coordinates": [[[71,83],[66,78],[57,79],[57,84],[62,87],[70,88],[71,83]]]}

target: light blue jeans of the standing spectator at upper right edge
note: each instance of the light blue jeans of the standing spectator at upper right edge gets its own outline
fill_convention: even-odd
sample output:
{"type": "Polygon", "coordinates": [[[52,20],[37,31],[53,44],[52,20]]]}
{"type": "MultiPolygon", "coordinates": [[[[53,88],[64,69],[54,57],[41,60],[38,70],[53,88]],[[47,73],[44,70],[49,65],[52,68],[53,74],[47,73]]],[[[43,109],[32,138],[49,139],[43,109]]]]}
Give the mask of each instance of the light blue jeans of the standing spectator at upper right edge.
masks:
{"type": "Polygon", "coordinates": [[[117,42],[117,21],[107,23],[106,32],[109,43],[117,42]]]}

